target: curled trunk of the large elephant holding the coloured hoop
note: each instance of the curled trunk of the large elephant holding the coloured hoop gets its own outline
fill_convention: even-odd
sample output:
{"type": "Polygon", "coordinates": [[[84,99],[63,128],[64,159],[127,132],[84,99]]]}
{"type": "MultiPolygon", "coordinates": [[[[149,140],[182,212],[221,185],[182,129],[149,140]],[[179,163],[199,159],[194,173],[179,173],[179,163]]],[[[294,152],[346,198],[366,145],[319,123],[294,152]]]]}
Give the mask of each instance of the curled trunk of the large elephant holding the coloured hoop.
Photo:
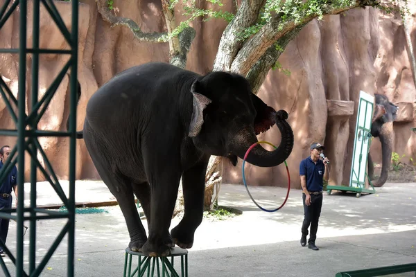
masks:
{"type": "MultiPolygon", "coordinates": [[[[283,163],[291,154],[293,149],[293,131],[291,126],[286,122],[288,114],[280,110],[276,114],[276,125],[281,133],[279,147],[274,151],[265,150],[261,145],[256,145],[248,154],[246,161],[254,166],[272,167],[283,163]]],[[[232,141],[232,152],[238,157],[244,159],[245,152],[253,143],[257,143],[257,137],[253,127],[245,127],[241,130],[232,141]]]]}

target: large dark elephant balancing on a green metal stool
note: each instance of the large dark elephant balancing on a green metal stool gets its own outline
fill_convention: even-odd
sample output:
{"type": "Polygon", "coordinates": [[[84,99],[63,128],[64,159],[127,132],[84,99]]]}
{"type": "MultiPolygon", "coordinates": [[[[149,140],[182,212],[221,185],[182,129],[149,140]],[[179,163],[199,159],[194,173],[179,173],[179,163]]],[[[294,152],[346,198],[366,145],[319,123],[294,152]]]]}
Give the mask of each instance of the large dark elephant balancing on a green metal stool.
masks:
{"type": "Polygon", "coordinates": [[[225,71],[200,75],[149,62],[114,75],[87,102],[78,139],[84,139],[98,174],[116,197],[130,235],[128,247],[148,256],[189,249],[204,211],[205,172],[211,155],[236,166],[257,134],[277,125],[274,151],[256,145],[246,161],[272,167],[293,149],[284,110],[252,93],[243,76],[225,71]],[[182,178],[184,215],[169,233],[182,178]],[[141,223],[134,195],[148,223],[141,223]]]}

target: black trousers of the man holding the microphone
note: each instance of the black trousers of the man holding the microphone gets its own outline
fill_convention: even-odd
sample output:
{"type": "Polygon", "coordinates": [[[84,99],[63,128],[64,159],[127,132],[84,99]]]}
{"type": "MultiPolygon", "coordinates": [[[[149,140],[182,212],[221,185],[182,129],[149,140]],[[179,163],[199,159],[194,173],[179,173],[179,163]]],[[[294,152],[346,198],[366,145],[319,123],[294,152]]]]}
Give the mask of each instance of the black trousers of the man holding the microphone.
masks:
{"type": "Polygon", "coordinates": [[[302,235],[304,237],[308,235],[309,225],[311,225],[311,235],[309,235],[308,243],[315,242],[316,240],[316,231],[318,231],[318,222],[322,208],[322,198],[322,193],[320,195],[311,195],[311,205],[306,206],[306,195],[302,193],[304,204],[304,222],[302,224],[302,235]]]}

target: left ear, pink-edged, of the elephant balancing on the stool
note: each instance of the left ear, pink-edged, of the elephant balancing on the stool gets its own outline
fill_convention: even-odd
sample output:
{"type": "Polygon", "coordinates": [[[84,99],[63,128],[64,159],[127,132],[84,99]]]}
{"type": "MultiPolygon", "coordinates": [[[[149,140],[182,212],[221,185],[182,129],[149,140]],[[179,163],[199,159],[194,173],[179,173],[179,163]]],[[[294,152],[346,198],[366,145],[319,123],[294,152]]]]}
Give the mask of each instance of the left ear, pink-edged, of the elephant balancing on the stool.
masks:
{"type": "Polygon", "coordinates": [[[191,137],[198,136],[200,133],[202,124],[204,124],[204,109],[209,103],[212,102],[211,99],[207,98],[207,96],[202,95],[200,91],[202,91],[202,86],[200,82],[196,80],[193,82],[191,87],[191,93],[193,96],[193,109],[188,133],[188,136],[191,137]]]}

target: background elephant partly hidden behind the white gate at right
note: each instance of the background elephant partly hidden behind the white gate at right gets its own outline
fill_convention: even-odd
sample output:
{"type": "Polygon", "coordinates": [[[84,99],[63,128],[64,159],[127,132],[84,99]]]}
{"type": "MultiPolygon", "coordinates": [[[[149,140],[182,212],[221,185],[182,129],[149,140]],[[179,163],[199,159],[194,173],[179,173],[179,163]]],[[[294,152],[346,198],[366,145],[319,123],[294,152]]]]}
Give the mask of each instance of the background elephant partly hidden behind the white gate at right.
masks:
{"type": "MultiPolygon", "coordinates": [[[[385,184],[388,177],[388,170],[392,159],[392,143],[393,143],[393,121],[397,118],[399,107],[388,100],[386,96],[374,93],[376,105],[374,115],[372,117],[372,125],[370,133],[374,137],[379,137],[382,151],[382,167],[379,179],[372,182],[373,186],[381,187],[385,184]]],[[[374,179],[374,164],[370,155],[368,160],[368,177],[374,179]]]]}

